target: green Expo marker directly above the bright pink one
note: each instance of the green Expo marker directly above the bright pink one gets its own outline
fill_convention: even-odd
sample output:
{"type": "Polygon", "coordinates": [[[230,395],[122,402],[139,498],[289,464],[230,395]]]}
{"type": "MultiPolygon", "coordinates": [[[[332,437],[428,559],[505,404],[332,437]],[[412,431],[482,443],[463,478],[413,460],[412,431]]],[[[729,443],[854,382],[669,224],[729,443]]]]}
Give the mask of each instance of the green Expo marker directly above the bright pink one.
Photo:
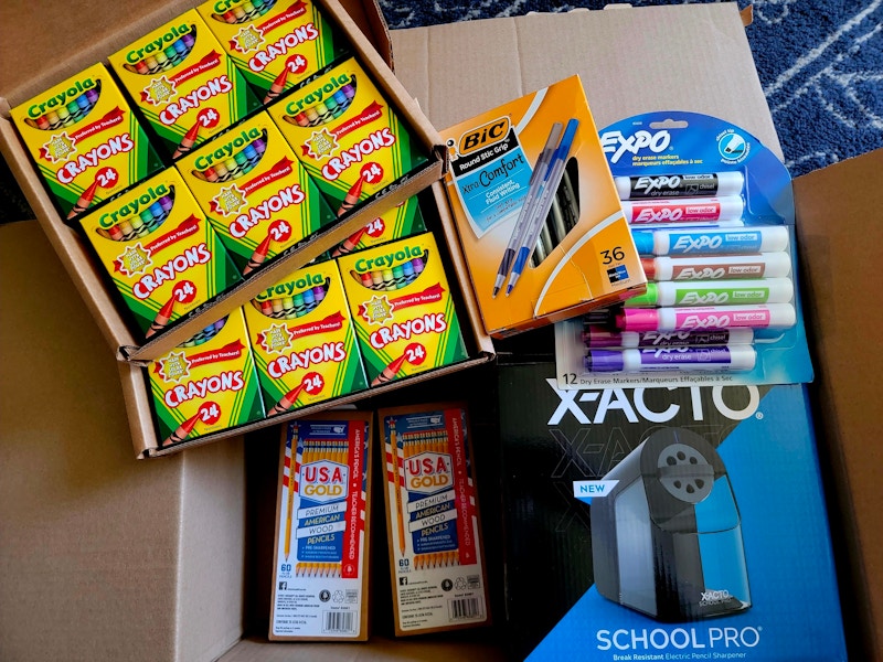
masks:
{"type": "Polygon", "coordinates": [[[626,299],[627,308],[640,306],[730,306],[787,303],[794,297],[790,278],[735,280],[680,280],[648,282],[647,291],[626,299]]]}

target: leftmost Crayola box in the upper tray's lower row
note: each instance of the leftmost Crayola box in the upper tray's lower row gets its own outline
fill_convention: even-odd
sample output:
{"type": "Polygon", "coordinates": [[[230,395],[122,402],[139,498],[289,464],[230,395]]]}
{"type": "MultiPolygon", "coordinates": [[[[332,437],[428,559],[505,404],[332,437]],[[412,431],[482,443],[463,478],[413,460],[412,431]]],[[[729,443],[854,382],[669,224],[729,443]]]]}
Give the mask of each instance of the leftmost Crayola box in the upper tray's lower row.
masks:
{"type": "Polygon", "coordinates": [[[145,340],[242,280],[174,168],[79,223],[145,340]]]}

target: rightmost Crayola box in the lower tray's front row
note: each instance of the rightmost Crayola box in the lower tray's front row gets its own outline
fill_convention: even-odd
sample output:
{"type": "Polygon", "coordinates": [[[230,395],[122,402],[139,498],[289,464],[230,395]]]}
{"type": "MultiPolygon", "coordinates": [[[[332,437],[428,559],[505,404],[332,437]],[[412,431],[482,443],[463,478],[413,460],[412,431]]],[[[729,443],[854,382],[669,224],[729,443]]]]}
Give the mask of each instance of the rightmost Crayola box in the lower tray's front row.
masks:
{"type": "Polygon", "coordinates": [[[338,258],[371,386],[467,359],[430,233],[338,258]]]}

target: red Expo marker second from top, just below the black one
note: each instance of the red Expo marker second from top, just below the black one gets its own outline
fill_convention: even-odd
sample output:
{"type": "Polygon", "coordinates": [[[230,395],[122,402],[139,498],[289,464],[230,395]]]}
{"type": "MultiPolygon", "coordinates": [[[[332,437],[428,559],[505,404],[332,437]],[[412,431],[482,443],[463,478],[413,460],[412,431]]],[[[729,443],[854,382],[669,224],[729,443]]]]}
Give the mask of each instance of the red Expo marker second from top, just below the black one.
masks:
{"type": "Polygon", "coordinates": [[[623,201],[623,213],[631,225],[735,221],[742,217],[744,209],[745,204],[738,195],[623,201]]]}

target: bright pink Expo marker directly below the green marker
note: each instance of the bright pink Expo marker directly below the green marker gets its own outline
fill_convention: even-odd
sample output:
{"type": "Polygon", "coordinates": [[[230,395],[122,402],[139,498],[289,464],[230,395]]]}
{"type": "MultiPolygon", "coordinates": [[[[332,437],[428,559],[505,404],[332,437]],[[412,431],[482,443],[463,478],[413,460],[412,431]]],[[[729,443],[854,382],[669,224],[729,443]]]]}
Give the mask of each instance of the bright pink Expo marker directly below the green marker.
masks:
{"type": "Polygon", "coordinates": [[[787,329],[796,323],[797,314],[790,303],[626,308],[616,316],[616,325],[621,331],[702,331],[734,327],[787,329]]]}

